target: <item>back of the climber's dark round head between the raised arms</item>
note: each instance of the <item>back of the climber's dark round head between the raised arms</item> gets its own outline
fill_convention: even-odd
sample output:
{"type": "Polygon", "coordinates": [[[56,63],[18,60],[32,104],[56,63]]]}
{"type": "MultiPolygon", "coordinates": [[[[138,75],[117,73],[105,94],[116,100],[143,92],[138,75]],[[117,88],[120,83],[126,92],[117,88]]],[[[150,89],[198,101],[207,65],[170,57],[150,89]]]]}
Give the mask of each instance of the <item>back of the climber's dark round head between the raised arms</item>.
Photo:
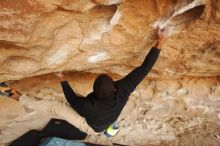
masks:
{"type": "Polygon", "coordinates": [[[93,91],[98,99],[104,99],[113,96],[115,93],[113,79],[107,74],[99,75],[94,82],[93,91]]]}

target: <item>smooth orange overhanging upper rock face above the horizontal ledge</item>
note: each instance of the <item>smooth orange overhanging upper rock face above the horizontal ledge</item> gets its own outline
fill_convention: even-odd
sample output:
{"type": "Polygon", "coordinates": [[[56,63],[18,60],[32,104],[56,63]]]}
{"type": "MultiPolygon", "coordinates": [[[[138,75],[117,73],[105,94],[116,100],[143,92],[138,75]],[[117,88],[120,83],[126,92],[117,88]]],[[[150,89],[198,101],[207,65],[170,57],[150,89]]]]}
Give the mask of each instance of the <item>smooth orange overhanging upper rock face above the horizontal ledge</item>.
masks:
{"type": "Polygon", "coordinates": [[[168,38],[150,77],[220,74],[218,0],[3,0],[0,8],[0,80],[127,74],[154,45],[157,25],[168,38]]]}

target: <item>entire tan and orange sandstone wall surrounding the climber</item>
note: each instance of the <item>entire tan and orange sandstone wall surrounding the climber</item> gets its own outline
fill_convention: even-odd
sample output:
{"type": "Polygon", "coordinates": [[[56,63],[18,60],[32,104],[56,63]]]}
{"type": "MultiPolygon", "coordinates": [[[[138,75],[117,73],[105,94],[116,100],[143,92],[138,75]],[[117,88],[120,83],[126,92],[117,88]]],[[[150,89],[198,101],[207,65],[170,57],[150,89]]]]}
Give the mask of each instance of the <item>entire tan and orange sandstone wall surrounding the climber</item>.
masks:
{"type": "MultiPolygon", "coordinates": [[[[160,58],[132,94],[123,128],[112,141],[219,145],[219,0],[1,0],[0,81],[23,79],[12,83],[63,100],[48,73],[71,71],[69,80],[85,95],[94,73],[120,78],[138,66],[155,44],[158,25],[167,35],[160,58]]],[[[0,105],[4,144],[13,139],[7,124],[25,111],[5,98],[0,105]]],[[[27,130],[35,124],[20,127],[24,132],[25,125],[27,130]]],[[[111,143],[103,137],[87,140],[111,143]]]]}

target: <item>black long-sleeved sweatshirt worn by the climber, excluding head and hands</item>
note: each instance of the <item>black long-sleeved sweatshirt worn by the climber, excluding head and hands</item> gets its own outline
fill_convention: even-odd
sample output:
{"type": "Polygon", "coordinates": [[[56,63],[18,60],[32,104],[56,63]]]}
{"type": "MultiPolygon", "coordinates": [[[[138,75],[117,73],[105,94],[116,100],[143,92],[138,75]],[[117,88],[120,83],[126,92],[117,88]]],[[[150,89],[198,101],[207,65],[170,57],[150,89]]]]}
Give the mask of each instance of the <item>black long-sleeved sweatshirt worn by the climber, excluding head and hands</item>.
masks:
{"type": "Polygon", "coordinates": [[[100,100],[93,92],[88,94],[86,98],[79,97],[67,81],[62,81],[61,86],[64,95],[71,107],[82,117],[85,117],[88,125],[94,131],[102,132],[117,120],[131,92],[135,90],[136,86],[152,69],[159,53],[160,49],[153,47],[141,66],[135,68],[124,78],[115,81],[116,92],[112,97],[100,100]]]}

